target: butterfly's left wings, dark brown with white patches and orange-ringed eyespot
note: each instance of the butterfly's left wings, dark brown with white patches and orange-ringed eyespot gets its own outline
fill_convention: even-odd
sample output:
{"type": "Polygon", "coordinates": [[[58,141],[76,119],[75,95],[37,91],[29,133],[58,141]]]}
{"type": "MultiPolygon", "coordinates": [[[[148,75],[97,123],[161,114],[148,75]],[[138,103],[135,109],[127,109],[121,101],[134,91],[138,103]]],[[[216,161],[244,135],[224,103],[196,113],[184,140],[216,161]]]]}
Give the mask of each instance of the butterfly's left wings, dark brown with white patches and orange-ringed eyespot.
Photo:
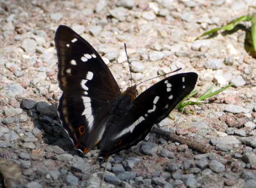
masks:
{"type": "Polygon", "coordinates": [[[67,26],[55,34],[61,123],[75,148],[87,153],[105,131],[119,87],[95,49],[67,26]]]}

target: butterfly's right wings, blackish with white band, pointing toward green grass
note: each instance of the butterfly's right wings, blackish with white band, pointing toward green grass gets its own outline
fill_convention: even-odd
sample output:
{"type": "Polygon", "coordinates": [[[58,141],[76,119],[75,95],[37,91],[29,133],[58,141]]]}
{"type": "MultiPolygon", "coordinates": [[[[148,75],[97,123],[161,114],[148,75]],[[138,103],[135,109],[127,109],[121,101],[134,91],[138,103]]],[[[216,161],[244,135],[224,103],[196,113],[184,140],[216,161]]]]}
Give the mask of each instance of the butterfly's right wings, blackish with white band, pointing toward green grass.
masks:
{"type": "Polygon", "coordinates": [[[104,139],[99,157],[127,150],[145,139],[154,124],[169,113],[195,88],[198,75],[194,72],[170,76],[141,93],[126,116],[116,118],[104,139]]]}

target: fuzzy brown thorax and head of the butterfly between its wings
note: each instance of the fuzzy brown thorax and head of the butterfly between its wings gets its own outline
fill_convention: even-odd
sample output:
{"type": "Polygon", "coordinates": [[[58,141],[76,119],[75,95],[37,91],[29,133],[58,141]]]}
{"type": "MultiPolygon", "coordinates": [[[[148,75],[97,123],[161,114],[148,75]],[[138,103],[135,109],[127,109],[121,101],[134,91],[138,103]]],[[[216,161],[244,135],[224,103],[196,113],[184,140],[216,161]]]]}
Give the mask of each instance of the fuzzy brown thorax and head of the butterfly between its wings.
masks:
{"type": "Polygon", "coordinates": [[[113,114],[122,116],[128,113],[137,95],[138,90],[136,89],[136,84],[128,87],[125,92],[119,96],[116,107],[113,108],[113,114]]]}

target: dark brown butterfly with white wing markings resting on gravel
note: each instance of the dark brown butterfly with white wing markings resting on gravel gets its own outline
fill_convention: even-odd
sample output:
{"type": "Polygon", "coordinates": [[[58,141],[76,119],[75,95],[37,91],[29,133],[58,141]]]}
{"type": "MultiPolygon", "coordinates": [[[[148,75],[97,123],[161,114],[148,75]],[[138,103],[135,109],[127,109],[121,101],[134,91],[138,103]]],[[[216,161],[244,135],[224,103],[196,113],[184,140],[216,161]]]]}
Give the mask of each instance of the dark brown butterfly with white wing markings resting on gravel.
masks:
{"type": "Polygon", "coordinates": [[[195,87],[195,72],[176,74],[138,95],[136,84],[120,92],[96,50],[67,26],[55,34],[58,102],[62,126],[74,148],[88,153],[101,141],[98,157],[108,158],[143,141],[195,87]],[[138,96],[137,96],[138,95],[138,96]]]}

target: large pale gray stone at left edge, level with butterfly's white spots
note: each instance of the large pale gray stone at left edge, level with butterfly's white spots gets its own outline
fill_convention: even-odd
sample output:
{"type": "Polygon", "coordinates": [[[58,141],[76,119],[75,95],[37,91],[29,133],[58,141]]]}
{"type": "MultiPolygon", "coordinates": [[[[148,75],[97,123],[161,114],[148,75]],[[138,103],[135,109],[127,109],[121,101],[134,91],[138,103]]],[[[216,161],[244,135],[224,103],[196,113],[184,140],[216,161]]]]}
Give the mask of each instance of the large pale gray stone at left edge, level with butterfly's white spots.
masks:
{"type": "Polygon", "coordinates": [[[19,83],[14,82],[4,87],[3,90],[0,90],[0,92],[2,92],[2,95],[16,97],[17,95],[25,94],[26,90],[19,83]]]}

